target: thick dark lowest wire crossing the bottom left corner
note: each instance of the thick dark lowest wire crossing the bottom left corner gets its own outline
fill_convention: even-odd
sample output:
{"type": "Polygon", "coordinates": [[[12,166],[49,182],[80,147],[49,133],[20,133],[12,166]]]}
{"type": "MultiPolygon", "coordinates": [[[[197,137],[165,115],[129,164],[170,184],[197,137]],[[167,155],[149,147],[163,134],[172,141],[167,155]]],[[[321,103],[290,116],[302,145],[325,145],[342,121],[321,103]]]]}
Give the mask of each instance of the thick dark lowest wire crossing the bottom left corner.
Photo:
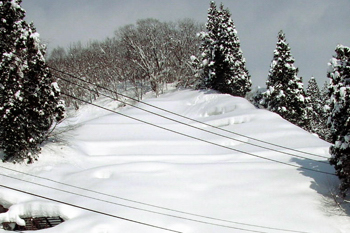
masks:
{"type": "Polygon", "coordinates": [[[105,216],[108,216],[108,217],[121,219],[121,220],[124,220],[124,221],[136,223],[136,224],[141,224],[141,225],[144,225],[144,226],[157,228],[157,229],[164,230],[164,231],[175,232],[175,233],[183,233],[181,231],[175,231],[175,230],[171,230],[171,229],[168,229],[168,228],[156,226],[156,225],[153,225],[153,224],[136,221],[136,220],[129,219],[129,218],[124,218],[124,217],[120,217],[120,216],[117,216],[117,215],[108,214],[108,213],[105,213],[105,212],[102,212],[102,211],[86,208],[86,207],[83,207],[83,206],[80,206],[80,205],[75,205],[75,204],[71,204],[71,203],[68,203],[68,202],[60,201],[60,200],[57,200],[57,199],[45,197],[45,196],[38,195],[38,194],[35,194],[35,193],[31,193],[31,192],[23,191],[23,190],[20,190],[20,189],[12,188],[12,187],[9,187],[9,186],[3,185],[3,184],[0,184],[0,187],[6,188],[6,189],[10,189],[10,190],[13,190],[13,191],[17,191],[17,192],[20,192],[20,193],[28,194],[28,195],[31,195],[31,196],[39,197],[39,198],[42,198],[42,199],[45,199],[45,200],[48,200],[48,201],[53,201],[53,202],[57,202],[57,203],[60,203],[60,204],[72,206],[72,207],[79,208],[79,209],[82,209],[82,210],[86,210],[86,211],[89,211],[89,212],[93,212],[93,213],[96,213],[96,214],[101,214],[101,215],[105,215],[105,216]]]}

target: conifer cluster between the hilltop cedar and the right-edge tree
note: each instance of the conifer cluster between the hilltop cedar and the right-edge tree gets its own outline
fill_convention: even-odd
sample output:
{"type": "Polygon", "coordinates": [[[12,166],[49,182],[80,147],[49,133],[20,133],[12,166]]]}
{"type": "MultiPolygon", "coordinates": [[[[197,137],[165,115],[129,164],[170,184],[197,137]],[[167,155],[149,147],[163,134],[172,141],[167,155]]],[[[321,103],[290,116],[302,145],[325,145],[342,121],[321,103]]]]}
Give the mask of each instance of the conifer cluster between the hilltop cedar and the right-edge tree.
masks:
{"type": "Polygon", "coordinates": [[[316,79],[311,77],[305,90],[294,62],[286,36],[280,31],[266,88],[250,93],[249,99],[255,106],[275,112],[289,122],[333,143],[327,124],[330,116],[329,89],[332,87],[326,82],[320,90],[316,79]]]}

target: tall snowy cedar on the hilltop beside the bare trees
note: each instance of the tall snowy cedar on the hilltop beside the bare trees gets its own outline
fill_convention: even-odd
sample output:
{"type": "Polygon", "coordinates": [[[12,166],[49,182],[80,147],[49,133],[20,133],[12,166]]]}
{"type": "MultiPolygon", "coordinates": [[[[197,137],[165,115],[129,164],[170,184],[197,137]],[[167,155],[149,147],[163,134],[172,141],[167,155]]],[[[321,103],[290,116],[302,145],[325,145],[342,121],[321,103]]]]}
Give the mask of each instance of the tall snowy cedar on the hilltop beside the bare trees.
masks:
{"type": "Polygon", "coordinates": [[[211,2],[206,29],[199,34],[201,87],[244,97],[252,83],[229,10],[211,2]]]}

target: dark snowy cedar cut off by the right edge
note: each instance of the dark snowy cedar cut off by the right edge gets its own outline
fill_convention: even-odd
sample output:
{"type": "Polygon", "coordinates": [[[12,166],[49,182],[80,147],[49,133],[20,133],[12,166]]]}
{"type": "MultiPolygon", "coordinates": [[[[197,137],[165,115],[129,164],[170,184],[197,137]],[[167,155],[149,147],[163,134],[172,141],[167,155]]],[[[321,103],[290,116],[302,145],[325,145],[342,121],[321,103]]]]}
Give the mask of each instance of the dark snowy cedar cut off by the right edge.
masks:
{"type": "Polygon", "coordinates": [[[329,62],[330,116],[328,123],[334,145],[330,147],[340,191],[346,196],[350,188],[350,47],[338,45],[329,62]]]}

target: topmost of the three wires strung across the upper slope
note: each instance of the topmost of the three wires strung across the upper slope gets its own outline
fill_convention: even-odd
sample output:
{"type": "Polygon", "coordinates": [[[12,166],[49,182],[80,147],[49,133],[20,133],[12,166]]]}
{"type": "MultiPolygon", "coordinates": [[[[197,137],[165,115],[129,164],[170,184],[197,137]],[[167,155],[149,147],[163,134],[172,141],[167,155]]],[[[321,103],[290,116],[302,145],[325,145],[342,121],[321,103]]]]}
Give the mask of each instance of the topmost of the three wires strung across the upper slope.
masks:
{"type": "MultiPolygon", "coordinates": [[[[95,84],[95,83],[86,81],[86,80],[84,80],[84,79],[81,79],[81,78],[79,78],[79,77],[73,75],[73,74],[70,74],[70,73],[68,73],[68,72],[64,72],[64,71],[58,70],[58,69],[53,68],[53,67],[51,67],[51,66],[48,66],[48,68],[50,68],[50,69],[52,69],[52,70],[54,70],[54,71],[56,71],[56,72],[59,72],[59,73],[61,73],[61,74],[65,74],[65,75],[67,75],[67,76],[70,76],[70,77],[72,77],[72,78],[74,78],[74,79],[76,79],[76,80],[79,80],[79,81],[88,83],[88,84],[93,85],[93,86],[98,87],[98,88],[101,88],[101,89],[103,89],[103,90],[105,90],[105,91],[109,91],[109,92],[111,92],[111,93],[114,93],[114,94],[116,94],[116,95],[122,96],[122,97],[124,97],[124,98],[128,98],[128,99],[130,99],[130,100],[133,100],[133,101],[142,103],[142,104],[147,105],[147,106],[149,106],[149,107],[153,107],[153,108],[155,108],[155,109],[158,109],[158,110],[161,110],[161,111],[164,111],[164,112],[173,114],[173,115],[178,116],[178,117],[182,117],[182,118],[187,119],[187,120],[191,120],[191,121],[196,122],[196,123],[203,124],[203,125],[208,126],[208,127],[212,127],[212,128],[215,128],[215,129],[218,129],[218,130],[221,130],[221,131],[225,131],[225,132],[227,132],[227,133],[235,134],[235,135],[238,135],[238,136],[241,136],[241,137],[245,137],[245,138],[248,138],[248,139],[257,141],[257,142],[265,143],[265,144],[268,144],[268,145],[271,145],[271,146],[283,148],[283,149],[286,149],[286,150],[290,150],[290,151],[294,151],[294,152],[298,152],[298,153],[302,153],[302,154],[312,155],[312,156],[315,156],[315,157],[320,157],[320,158],[326,158],[326,159],[328,159],[328,157],[326,157],[326,156],[317,155],[317,154],[313,154],[313,153],[309,153],[309,152],[305,152],[305,151],[301,151],[301,150],[296,150],[296,149],[293,149],[293,148],[289,148],[289,147],[286,147],[286,146],[281,146],[281,145],[278,145],[278,144],[266,142],[266,141],[263,141],[263,140],[260,140],[260,139],[256,139],[256,138],[253,138],[253,137],[249,137],[249,136],[246,136],[246,135],[243,135],[243,134],[239,134],[239,133],[236,133],[236,132],[233,132],[233,131],[230,131],[230,130],[226,130],[226,129],[223,129],[223,128],[220,128],[220,127],[217,127],[217,126],[214,126],[214,125],[210,125],[210,124],[208,124],[208,123],[201,122],[201,121],[198,121],[198,120],[196,120],[196,119],[192,119],[192,118],[190,118],[190,117],[186,117],[186,116],[180,115],[180,114],[178,114],[178,113],[175,113],[175,112],[166,110],[166,109],[164,109],[164,108],[160,108],[160,107],[157,107],[157,106],[155,106],[155,105],[152,105],[152,104],[149,104],[149,103],[140,101],[140,100],[135,99],[135,98],[132,98],[132,97],[129,97],[129,96],[124,95],[124,94],[122,94],[122,93],[119,93],[119,92],[117,92],[117,91],[110,90],[110,89],[108,89],[108,88],[105,88],[105,87],[100,86],[100,85],[98,85],[98,84],[95,84]]],[[[62,77],[60,77],[60,79],[62,79],[62,77]]],[[[94,90],[94,91],[95,91],[95,90],[94,90]]]]}

